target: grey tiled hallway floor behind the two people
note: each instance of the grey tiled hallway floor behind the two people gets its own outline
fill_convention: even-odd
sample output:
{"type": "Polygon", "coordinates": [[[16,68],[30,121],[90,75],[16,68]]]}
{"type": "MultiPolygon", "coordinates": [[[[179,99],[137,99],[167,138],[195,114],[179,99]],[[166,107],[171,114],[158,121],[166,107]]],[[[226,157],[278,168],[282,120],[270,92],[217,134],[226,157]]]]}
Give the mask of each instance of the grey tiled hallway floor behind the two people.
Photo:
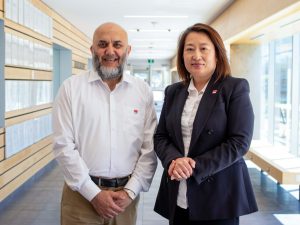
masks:
{"type": "MultiPolygon", "coordinates": [[[[0,207],[1,225],[59,225],[63,178],[56,164],[53,165],[53,169],[18,192],[10,204],[0,207]]],[[[299,225],[300,202],[259,170],[251,167],[249,171],[260,211],[241,217],[240,224],[299,225]]],[[[153,212],[161,172],[159,168],[150,191],[141,195],[137,225],[168,224],[153,212]]]]}

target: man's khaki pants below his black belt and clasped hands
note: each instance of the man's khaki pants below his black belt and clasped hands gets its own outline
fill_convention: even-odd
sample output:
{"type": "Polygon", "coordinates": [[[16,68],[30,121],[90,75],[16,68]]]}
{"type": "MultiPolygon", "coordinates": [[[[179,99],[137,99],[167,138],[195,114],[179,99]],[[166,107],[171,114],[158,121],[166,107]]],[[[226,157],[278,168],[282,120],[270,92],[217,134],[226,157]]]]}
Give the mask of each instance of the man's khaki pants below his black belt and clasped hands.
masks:
{"type": "MultiPolygon", "coordinates": [[[[122,188],[106,189],[117,191],[122,188]]],[[[101,189],[103,188],[101,187],[101,189]]],[[[112,219],[104,219],[97,214],[89,201],[65,184],[61,200],[61,225],[135,225],[138,201],[139,196],[123,213],[112,219]]]]}

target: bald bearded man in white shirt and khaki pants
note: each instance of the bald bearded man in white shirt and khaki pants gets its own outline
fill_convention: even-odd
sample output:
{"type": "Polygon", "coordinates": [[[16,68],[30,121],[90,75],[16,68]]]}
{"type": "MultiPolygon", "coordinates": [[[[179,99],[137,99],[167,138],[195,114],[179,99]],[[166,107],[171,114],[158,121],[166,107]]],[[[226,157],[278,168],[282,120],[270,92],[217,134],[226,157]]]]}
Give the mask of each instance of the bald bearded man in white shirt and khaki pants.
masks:
{"type": "Polygon", "coordinates": [[[134,225],[157,166],[153,95],[125,73],[131,47],[122,27],[99,26],[90,50],[94,71],[67,79],[53,109],[53,151],[66,181],[61,224],[134,225]]]}

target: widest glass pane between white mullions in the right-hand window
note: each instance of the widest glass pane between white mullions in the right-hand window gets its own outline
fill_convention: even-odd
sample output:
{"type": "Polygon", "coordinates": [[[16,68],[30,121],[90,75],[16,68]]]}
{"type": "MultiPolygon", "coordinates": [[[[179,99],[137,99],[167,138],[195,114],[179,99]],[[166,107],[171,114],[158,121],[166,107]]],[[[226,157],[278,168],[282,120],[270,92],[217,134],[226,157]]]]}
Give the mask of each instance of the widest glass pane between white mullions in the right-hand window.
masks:
{"type": "Polygon", "coordinates": [[[275,43],[274,144],[289,149],[291,135],[292,37],[275,43]]]}

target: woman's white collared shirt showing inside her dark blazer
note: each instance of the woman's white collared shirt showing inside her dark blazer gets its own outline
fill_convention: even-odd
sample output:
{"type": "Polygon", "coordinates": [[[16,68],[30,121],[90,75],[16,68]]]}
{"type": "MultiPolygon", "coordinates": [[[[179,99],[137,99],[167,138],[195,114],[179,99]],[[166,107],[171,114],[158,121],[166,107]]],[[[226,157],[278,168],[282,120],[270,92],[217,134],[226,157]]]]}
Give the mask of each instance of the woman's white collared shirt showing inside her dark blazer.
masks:
{"type": "MultiPolygon", "coordinates": [[[[185,105],[181,115],[181,132],[182,132],[185,156],[187,156],[189,152],[192,131],[193,131],[193,123],[195,120],[199,103],[207,87],[207,84],[208,83],[206,83],[206,85],[202,88],[202,90],[198,92],[198,90],[194,86],[193,79],[191,79],[190,85],[188,87],[189,96],[185,101],[185,105]]],[[[183,209],[186,209],[188,207],[186,191],[187,191],[186,180],[181,180],[179,183],[177,205],[183,209]]]]}

